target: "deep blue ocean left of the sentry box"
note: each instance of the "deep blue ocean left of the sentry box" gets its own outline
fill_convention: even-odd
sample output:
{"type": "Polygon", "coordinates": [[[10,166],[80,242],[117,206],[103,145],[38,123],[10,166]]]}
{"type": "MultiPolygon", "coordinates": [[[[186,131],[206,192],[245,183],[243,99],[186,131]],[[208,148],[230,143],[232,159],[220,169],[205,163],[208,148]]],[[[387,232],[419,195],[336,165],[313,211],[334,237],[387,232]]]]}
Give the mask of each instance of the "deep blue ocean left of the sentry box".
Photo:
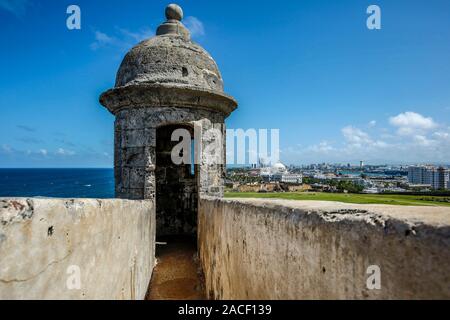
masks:
{"type": "Polygon", "coordinates": [[[114,170],[0,169],[0,197],[114,198],[114,170]]]}

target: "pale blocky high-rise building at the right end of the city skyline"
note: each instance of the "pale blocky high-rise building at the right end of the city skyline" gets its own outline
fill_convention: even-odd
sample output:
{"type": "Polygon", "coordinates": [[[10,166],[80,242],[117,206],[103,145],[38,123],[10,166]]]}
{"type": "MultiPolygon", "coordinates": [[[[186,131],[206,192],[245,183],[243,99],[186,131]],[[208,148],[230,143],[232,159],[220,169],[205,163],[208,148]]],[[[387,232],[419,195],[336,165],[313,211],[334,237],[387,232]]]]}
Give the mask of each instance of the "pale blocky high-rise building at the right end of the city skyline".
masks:
{"type": "Polygon", "coordinates": [[[430,186],[432,189],[450,189],[449,170],[434,166],[412,166],[408,168],[408,181],[412,185],[430,186]]]}

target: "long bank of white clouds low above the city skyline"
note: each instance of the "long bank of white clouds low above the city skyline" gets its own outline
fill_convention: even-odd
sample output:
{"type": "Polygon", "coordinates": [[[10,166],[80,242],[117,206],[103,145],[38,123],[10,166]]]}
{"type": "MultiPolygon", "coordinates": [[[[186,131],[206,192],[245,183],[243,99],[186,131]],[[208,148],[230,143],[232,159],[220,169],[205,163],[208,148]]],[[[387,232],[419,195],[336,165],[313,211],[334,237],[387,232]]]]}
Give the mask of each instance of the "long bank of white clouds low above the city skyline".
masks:
{"type": "Polygon", "coordinates": [[[450,127],[417,113],[402,113],[387,119],[390,129],[378,127],[369,135],[349,125],[341,129],[342,139],[332,143],[287,148],[283,161],[290,163],[358,162],[372,163],[449,163],[450,127]],[[433,128],[439,130],[431,130],[433,128]],[[399,134],[399,129],[402,131],[399,134]],[[408,131],[409,130],[409,131],[408,131]],[[405,135],[403,132],[410,134],[405,135]]]}

